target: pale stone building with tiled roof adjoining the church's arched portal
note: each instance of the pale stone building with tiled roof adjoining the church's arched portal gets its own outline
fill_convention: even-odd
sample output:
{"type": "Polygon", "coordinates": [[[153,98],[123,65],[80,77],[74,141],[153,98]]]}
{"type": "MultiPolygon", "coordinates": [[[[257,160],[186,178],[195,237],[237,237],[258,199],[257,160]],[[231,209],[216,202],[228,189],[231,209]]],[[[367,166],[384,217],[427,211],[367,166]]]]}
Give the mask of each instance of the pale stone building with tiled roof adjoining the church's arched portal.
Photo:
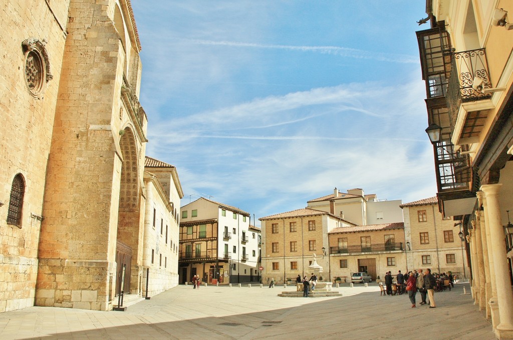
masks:
{"type": "Polygon", "coordinates": [[[178,211],[183,197],[176,168],[146,156],[143,282],[147,296],[178,285],[178,211]],[[146,291],[146,284],[148,290],[146,291]]]}

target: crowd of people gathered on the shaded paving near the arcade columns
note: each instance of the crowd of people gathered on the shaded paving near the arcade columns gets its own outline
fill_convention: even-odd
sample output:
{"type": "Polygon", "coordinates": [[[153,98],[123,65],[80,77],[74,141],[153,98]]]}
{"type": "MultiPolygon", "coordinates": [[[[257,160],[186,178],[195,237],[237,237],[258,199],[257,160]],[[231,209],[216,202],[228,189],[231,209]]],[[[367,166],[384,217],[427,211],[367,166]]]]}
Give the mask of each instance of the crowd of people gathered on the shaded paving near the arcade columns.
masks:
{"type": "MultiPolygon", "coordinates": [[[[444,273],[445,274],[445,273],[444,273]]],[[[450,272],[449,272],[450,274],[450,272]]],[[[449,277],[447,275],[447,277],[449,277]]],[[[420,292],[421,302],[420,305],[426,305],[426,295],[429,298],[429,308],[436,308],[435,305],[435,289],[437,288],[437,278],[431,274],[431,269],[413,270],[406,274],[402,274],[401,271],[396,275],[398,290],[400,293],[407,291],[408,297],[411,302],[411,308],[417,307],[416,295],[417,291],[420,292]]],[[[450,274],[449,282],[453,283],[452,274],[450,274]]],[[[385,285],[387,295],[392,294],[392,274],[387,272],[385,275],[385,285]]]]}

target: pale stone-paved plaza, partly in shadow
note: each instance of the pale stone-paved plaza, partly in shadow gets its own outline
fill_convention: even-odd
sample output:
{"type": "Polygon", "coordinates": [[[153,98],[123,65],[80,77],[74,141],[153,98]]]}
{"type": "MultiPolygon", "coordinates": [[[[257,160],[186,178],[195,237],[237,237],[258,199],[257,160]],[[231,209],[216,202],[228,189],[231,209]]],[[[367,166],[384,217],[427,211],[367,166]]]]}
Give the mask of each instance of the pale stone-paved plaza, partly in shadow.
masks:
{"type": "Polygon", "coordinates": [[[468,284],[435,293],[435,309],[380,296],[376,283],[341,287],[343,297],[277,296],[283,290],[179,286],[125,312],[30,307],[0,314],[0,339],[495,339],[468,284]]]}

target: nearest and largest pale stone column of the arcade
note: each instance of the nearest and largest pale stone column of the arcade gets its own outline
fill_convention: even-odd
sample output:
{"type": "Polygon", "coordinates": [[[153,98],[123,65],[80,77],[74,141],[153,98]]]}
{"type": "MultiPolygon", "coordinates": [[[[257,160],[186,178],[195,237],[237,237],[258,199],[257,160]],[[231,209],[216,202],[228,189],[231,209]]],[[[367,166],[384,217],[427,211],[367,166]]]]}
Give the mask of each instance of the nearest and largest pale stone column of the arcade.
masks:
{"type": "MultiPolygon", "coordinates": [[[[499,338],[513,338],[513,294],[509,281],[509,269],[504,243],[504,230],[501,223],[499,206],[499,190],[502,184],[485,184],[481,191],[485,193],[488,214],[487,228],[490,230],[490,247],[494,257],[494,277],[497,289],[497,305],[499,307],[499,321],[496,335],[499,338]]],[[[485,214],[486,217],[486,214],[485,214]]]]}

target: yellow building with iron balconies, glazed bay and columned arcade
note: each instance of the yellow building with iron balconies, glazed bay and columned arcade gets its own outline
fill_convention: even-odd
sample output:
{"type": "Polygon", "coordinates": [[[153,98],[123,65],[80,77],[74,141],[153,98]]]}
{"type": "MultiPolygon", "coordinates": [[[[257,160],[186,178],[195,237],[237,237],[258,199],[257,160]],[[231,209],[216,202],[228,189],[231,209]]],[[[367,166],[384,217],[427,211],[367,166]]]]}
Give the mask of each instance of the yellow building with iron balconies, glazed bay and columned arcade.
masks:
{"type": "Polygon", "coordinates": [[[513,2],[428,0],[417,32],[439,209],[462,223],[472,297],[513,338],[513,2]]]}

